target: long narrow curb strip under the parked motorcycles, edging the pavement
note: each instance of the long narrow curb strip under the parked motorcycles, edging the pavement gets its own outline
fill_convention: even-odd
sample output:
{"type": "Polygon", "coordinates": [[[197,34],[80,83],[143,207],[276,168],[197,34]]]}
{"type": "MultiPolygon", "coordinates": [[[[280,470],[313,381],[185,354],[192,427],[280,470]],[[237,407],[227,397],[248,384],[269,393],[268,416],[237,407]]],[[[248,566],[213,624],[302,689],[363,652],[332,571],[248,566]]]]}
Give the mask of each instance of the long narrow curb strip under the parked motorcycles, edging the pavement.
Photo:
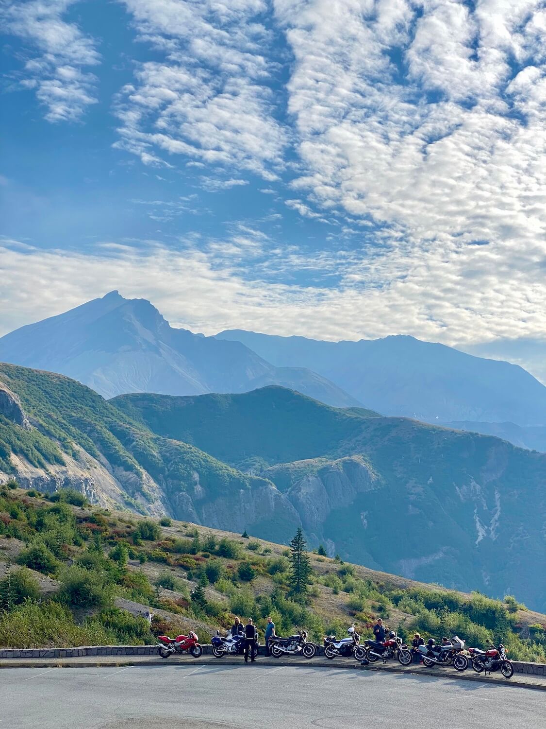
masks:
{"type": "MultiPolygon", "coordinates": [[[[301,661],[280,661],[280,660],[259,660],[258,663],[261,664],[261,666],[298,666],[298,667],[308,667],[308,668],[337,668],[337,669],[349,669],[349,670],[355,670],[360,669],[361,671],[386,671],[387,673],[392,674],[411,674],[412,676],[432,676],[435,678],[447,678],[447,679],[454,679],[454,680],[460,680],[460,681],[472,681],[474,683],[486,683],[486,684],[492,684],[492,685],[501,685],[501,686],[515,686],[518,688],[528,688],[531,690],[539,690],[539,691],[546,691],[546,681],[540,682],[540,683],[525,683],[523,681],[518,681],[518,679],[491,679],[480,676],[480,674],[476,674],[476,676],[465,675],[464,673],[448,673],[447,671],[444,673],[442,672],[436,672],[436,671],[424,671],[422,669],[420,670],[414,670],[412,668],[397,668],[397,666],[360,666],[358,663],[350,664],[349,666],[344,666],[341,663],[333,663],[331,661],[328,661],[328,663],[325,663],[324,661],[320,661],[320,663],[309,663],[306,661],[306,663],[303,663],[301,661]]],[[[167,661],[167,660],[147,660],[147,661],[135,661],[131,660],[131,658],[122,658],[120,656],[119,660],[115,661],[108,661],[106,663],[102,660],[85,660],[85,661],[79,661],[78,663],[71,663],[68,660],[32,660],[28,662],[21,662],[17,659],[10,659],[9,663],[6,660],[0,660],[0,669],[1,668],[117,668],[118,666],[240,666],[242,665],[241,660],[225,660],[221,658],[215,658],[214,660],[200,660],[199,658],[191,658],[188,660],[178,660],[178,661],[167,661]]],[[[244,664],[243,664],[244,665],[244,664]]]]}

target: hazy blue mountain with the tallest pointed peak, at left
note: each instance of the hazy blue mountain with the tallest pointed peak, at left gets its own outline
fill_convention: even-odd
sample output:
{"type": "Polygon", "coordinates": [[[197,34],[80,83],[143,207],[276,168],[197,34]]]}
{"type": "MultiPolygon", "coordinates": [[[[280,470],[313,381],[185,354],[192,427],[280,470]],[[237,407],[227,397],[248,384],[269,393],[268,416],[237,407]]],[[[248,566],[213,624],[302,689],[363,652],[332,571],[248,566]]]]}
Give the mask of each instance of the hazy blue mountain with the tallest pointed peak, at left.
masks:
{"type": "Polygon", "coordinates": [[[269,384],[329,405],[360,405],[303,367],[274,367],[238,342],[175,329],[145,299],[113,291],[0,338],[0,361],[58,372],[103,397],[242,392],[269,384]]]}

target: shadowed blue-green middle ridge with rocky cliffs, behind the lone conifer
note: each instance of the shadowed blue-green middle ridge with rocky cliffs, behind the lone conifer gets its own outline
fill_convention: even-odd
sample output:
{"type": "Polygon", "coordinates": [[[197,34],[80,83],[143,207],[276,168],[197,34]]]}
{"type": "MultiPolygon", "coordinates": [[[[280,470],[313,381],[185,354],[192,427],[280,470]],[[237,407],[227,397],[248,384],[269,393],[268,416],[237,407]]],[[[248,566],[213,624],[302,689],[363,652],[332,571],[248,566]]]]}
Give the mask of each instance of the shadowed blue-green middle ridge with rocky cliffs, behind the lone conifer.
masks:
{"type": "Polygon", "coordinates": [[[272,481],[331,555],[546,607],[541,453],[276,387],[112,403],[161,437],[272,481]]]}

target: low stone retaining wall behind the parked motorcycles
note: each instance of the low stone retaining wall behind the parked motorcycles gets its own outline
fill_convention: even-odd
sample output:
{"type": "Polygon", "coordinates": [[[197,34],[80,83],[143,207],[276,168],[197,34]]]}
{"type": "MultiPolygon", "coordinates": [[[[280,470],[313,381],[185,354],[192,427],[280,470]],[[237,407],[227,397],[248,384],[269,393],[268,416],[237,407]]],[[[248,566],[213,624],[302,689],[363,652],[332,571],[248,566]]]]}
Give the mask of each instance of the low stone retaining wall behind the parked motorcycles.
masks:
{"type": "MultiPolygon", "coordinates": [[[[264,646],[259,647],[259,652],[264,654],[264,646]]],[[[93,645],[79,646],[76,648],[0,648],[0,660],[5,658],[82,658],[84,656],[100,655],[157,655],[157,645],[93,645]]],[[[204,644],[203,654],[212,653],[212,646],[204,644]]],[[[324,649],[319,647],[317,655],[323,655],[324,649]]],[[[520,660],[513,660],[514,673],[533,674],[546,677],[545,663],[524,663],[520,660]]]]}

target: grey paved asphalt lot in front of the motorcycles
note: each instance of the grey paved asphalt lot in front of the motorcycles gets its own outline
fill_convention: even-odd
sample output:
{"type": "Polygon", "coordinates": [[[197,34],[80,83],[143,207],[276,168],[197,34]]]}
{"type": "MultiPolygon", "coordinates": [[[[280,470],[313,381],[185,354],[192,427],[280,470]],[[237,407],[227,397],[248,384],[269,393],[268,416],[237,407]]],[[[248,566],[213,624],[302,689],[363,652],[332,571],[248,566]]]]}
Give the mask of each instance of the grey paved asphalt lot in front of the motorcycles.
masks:
{"type": "Polygon", "coordinates": [[[6,668],[0,729],[544,729],[542,691],[296,666],[6,668]]]}

